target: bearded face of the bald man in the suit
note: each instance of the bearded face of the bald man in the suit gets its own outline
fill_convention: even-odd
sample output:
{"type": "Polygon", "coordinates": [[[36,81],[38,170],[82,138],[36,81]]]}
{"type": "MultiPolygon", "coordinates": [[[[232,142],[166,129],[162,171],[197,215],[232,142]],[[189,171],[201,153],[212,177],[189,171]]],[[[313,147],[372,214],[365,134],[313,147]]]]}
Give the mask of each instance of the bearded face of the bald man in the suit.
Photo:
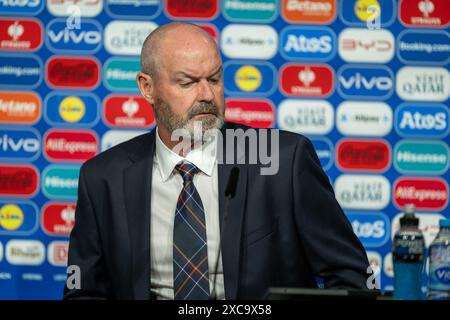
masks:
{"type": "Polygon", "coordinates": [[[220,128],[225,100],[222,61],[215,44],[197,35],[178,45],[166,41],[163,48],[152,92],[158,126],[169,132],[186,129],[191,136],[196,121],[203,132],[220,128]]]}

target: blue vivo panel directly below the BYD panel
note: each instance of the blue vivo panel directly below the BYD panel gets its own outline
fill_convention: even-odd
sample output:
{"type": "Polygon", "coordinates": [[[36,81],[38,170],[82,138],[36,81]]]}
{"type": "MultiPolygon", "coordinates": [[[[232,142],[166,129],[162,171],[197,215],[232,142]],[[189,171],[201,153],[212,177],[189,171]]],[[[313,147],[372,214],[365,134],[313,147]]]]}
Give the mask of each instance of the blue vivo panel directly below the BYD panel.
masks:
{"type": "Polygon", "coordinates": [[[384,100],[394,91],[394,74],[385,66],[346,65],[338,71],[340,95],[346,99],[384,100]]]}

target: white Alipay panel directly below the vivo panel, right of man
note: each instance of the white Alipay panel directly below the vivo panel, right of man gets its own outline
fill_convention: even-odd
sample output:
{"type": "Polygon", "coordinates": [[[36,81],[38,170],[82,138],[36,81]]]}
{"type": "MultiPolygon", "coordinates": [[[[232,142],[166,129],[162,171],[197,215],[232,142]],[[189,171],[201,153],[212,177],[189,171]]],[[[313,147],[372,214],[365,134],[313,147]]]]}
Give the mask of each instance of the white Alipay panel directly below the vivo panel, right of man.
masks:
{"type": "Polygon", "coordinates": [[[385,136],[392,125],[392,109],[383,102],[345,101],[336,111],[336,127],[344,135],[385,136]]]}

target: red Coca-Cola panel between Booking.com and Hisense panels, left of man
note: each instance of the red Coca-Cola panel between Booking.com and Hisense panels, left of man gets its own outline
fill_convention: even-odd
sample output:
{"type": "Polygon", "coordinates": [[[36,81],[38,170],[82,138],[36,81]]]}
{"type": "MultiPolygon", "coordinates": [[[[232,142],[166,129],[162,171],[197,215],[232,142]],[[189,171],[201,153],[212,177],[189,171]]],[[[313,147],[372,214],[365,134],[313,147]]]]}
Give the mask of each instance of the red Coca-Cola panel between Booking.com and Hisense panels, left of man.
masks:
{"type": "Polygon", "coordinates": [[[94,58],[52,57],[46,69],[47,82],[54,88],[93,89],[100,81],[100,64],[94,58]]]}

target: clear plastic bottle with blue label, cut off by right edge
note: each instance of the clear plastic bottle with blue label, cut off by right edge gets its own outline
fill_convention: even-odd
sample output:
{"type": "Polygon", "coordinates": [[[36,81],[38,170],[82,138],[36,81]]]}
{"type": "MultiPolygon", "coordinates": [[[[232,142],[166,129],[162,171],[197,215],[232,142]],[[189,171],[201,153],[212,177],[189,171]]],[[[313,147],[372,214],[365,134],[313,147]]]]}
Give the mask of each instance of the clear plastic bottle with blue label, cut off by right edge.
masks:
{"type": "Polygon", "coordinates": [[[427,299],[450,300],[450,219],[439,221],[430,245],[427,299]]]}

